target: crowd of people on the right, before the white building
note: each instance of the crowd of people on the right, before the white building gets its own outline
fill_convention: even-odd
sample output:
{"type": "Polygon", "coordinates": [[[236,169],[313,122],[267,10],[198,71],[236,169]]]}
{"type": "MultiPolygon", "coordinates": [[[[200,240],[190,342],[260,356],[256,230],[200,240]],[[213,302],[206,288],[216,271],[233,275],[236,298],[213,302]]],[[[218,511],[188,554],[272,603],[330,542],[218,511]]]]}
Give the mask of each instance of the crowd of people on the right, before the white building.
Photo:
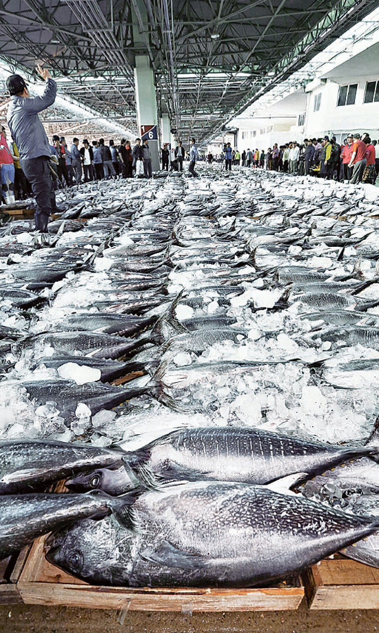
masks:
{"type": "Polygon", "coordinates": [[[337,143],[336,137],[325,136],[323,139],[304,139],[303,143],[274,143],[274,147],[267,151],[248,148],[242,154],[227,143],[223,160],[225,170],[231,170],[232,165],[242,161],[243,166],[256,169],[375,185],[379,172],[379,144],[374,139],[371,141],[368,132],[348,134],[342,145],[337,143]]]}

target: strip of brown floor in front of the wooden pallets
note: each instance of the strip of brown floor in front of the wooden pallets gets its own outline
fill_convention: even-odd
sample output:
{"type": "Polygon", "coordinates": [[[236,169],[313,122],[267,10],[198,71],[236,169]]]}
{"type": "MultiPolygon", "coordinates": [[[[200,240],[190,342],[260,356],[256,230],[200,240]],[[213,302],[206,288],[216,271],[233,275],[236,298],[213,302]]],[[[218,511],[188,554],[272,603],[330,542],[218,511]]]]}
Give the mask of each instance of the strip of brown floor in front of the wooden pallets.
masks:
{"type": "Polygon", "coordinates": [[[9,605],[0,633],[372,633],[379,611],[178,614],[9,605]]]}

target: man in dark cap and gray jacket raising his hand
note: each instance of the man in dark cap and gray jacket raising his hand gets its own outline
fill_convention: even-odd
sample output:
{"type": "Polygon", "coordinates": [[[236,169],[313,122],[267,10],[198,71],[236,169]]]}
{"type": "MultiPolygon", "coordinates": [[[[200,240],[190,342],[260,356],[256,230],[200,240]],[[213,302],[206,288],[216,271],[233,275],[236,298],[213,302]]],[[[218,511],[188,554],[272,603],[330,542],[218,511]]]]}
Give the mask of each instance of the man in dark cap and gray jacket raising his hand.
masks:
{"type": "Polygon", "coordinates": [[[37,72],[45,79],[45,91],[41,97],[31,97],[28,86],[19,74],[11,74],[7,88],[12,99],[8,107],[8,125],[19,148],[21,167],[28,178],[37,201],[35,227],[48,232],[48,221],[56,207],[55,193],[50,177],[50,145],[38,113],[46,110],[55,101],[57,83],[47,68],[37,66],[37,72]]]}

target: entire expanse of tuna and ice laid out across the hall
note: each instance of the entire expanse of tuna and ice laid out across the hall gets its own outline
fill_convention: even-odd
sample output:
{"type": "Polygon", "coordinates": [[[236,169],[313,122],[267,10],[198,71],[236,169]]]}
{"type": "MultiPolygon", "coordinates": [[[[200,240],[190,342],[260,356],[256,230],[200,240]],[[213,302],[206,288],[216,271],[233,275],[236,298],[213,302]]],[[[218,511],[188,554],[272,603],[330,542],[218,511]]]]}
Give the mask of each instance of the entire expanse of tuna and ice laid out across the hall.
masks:
{"type": "Polygon", "coordinates": [[[1,554],[52,531],[51,562],[132,586],[378,565],[365,188],[205,169],[61,204],[50,248],[0,229],[1,554]]]}

